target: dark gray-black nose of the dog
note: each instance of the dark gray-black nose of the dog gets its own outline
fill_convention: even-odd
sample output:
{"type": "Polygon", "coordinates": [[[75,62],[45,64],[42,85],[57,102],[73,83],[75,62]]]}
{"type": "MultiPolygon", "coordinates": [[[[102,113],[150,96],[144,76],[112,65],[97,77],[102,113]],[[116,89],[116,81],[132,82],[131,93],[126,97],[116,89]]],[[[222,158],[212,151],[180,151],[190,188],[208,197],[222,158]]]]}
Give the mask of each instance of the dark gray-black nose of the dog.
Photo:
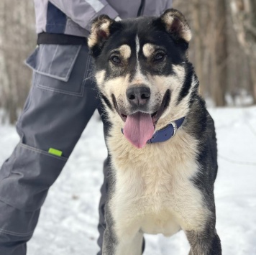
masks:
{"type": "Polygon", "coordinates": [[[127,89],[128,101],[134,106],[142,106],[150,99],[150,88],[132,87],[127,89]]]}

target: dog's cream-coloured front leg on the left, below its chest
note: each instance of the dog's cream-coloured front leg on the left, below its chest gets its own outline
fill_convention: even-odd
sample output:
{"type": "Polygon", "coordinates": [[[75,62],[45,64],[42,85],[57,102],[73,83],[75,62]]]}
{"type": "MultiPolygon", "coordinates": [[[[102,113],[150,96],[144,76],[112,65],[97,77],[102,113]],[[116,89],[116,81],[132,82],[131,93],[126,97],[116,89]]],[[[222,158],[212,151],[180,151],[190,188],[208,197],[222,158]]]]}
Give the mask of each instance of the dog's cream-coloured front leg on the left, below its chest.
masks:
{"type": "Polygon", "coordinates": [[[108,228],[104,232],[103,255],[142,255],[143,234],[139,231],[132,238],[116,236],[108,228]]]}

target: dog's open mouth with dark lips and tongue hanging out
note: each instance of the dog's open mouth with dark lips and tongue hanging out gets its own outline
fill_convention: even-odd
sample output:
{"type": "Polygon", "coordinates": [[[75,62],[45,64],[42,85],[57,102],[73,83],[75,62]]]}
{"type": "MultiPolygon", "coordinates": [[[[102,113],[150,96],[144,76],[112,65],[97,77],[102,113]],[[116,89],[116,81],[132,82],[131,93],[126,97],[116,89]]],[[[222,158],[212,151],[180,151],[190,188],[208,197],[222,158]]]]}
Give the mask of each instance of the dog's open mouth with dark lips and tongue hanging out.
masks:
{"type": "Polygon", "coordinates": [[[122,118],[124,123],[124,136],[131,142],[135,147],[145,147],[147,141],[152,138],[155,132],[155,125],[160,117],[163,115],[165,108],[170,102],[170,91],[166,91],[163,101],[154,113],[143,113],[137,111],[131,115],[125,115],[121,113],[115,103],[116,111],[122,118]]]}

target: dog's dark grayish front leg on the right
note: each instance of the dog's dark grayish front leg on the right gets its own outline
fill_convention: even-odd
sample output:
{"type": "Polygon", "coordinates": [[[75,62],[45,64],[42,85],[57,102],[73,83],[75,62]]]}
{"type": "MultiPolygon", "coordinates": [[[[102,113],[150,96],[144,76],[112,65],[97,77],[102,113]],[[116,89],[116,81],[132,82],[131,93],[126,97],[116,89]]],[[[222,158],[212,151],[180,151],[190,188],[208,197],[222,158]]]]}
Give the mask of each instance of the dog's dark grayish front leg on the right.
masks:
{"type": "Polygon", "coordinates": [[[191,244],[188,255],[221,255],[221,241],[215,229],[207,229],[200,233],[186,231],[186,236],[191,244]]]}

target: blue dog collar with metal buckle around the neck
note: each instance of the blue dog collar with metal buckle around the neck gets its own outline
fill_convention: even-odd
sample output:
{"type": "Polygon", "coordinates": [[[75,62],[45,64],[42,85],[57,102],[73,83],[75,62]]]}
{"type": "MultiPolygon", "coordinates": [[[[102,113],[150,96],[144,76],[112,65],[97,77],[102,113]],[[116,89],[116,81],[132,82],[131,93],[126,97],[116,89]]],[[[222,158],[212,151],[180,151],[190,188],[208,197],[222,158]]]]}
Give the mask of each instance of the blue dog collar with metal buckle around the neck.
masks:
{"type": "MultiPolygon", "coordinates": [[[[178,119],[177,121],[170,122],[165,128],[155,132],[151,139],[147,141],[147,144],[155,144],[155,142],[165,142],[175,136],[178,128],[183,124],[185,117],[178,119]]],[[[123,129],[121,129],[124,134],[123,129]]]]}

